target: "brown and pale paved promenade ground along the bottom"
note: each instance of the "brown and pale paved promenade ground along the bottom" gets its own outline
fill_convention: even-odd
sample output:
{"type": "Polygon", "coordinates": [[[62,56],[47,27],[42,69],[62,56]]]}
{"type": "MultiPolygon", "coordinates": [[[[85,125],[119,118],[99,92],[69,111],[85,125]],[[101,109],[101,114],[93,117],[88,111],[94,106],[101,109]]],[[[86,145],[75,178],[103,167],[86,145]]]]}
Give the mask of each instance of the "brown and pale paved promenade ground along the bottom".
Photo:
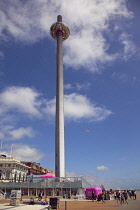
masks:
{"type": "MultiPolygon", "coordinates": [[[[45,210],[47,206],[41,204],[10,206],[9,203],[0,203],[0,210],[45,210]]],[[[59,210],[140,210],[140,198],[128,200],[128,204],[117,205],[116,201],[92,202],[92,201],[60,201],[59,210]]]]}

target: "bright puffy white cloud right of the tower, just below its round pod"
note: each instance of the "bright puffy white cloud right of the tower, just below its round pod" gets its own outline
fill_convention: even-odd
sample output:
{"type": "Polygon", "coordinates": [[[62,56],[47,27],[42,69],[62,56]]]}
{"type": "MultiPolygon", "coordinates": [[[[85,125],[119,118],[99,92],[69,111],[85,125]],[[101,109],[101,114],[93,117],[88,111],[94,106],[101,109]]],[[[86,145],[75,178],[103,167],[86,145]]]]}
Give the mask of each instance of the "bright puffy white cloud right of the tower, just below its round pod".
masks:
{"type": "Polygon", "coordinates": [[[70,37],[66,42],[64,62],[74,68],[85,67],[90,71],[98,71],[98,65],[116,59],[116,55],[109,55],[109,45],[101,34],[92,34],[83,29],[82,34],[70,37]],[[88,37],[88,38],[87,38],[88,37]]]}

